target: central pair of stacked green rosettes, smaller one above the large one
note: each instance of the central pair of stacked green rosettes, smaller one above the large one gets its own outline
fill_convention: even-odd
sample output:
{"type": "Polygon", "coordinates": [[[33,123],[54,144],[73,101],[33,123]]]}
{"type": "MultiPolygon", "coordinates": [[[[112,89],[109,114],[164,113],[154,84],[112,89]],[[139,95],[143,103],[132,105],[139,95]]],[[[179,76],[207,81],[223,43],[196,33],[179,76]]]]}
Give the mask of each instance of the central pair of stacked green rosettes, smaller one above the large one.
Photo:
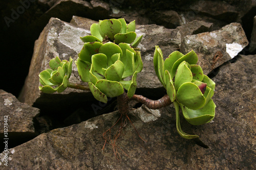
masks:
{"type": "Polygon", "coordinates": [[[137,74],[143,67],[140,52],[133,48],[142,38],[136,39],[135,21],[126,26],[123,18],[100,20],[90,30],[92,35],[81,37],[84,45],[76,61],[81,80],[88,82],[100,102],[106,103],[107,96],[122,94],[123,89],[131,98],[137,87],[137,74]],[[130,76],[132,80],[124,80],[130,76]]]}

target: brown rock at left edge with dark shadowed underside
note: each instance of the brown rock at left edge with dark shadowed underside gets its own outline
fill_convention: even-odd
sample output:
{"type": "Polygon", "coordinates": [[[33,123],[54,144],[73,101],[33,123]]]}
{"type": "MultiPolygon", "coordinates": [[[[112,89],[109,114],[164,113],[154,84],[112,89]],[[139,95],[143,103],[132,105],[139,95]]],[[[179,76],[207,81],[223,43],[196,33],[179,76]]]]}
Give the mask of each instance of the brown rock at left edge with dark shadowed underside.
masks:
{"type": "Polygon", "coordinates": [[[9,147],[14,147],[36,137],[38,134],[33,119],[39,112],[37,108],[20,103],[11,93],[0,90],[0,127],[3,130],[0,133],[1,139],[9,139],[9,147]]]}

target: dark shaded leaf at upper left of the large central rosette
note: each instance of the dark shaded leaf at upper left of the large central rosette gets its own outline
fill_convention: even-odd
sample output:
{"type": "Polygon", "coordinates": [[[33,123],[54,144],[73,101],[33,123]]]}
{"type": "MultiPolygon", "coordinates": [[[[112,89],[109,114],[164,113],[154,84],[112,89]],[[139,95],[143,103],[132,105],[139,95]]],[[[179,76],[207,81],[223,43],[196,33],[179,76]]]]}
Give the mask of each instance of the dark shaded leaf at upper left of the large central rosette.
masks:
{"type": "Polygon", "coordinates": [[[86,42],[83,44],[81,52],[78,54],[80,60],[92,63],[92,55],[99,53],[100,42],[86,42]]]}

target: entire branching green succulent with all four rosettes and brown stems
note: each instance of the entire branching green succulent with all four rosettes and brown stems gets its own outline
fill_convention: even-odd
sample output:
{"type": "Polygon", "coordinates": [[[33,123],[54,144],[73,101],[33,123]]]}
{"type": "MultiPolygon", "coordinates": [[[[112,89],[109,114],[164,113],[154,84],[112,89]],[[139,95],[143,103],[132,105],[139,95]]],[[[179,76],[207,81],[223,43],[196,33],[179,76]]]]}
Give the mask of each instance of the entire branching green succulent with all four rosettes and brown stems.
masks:
{"type": "MultiPolygon", "coordinates": [[[[192,125],[202,125],[214,118],[216,105],[211,98],[215,83],[196,64],[198,57],[194,51],[185,55],[175,51],[163,60],[162,51],[156,46],[154,68],[167,94],[153,101],[135,94],[137,74],[143,67],[136,48],[142,36],[137,37],[135,33],[135,21],[126,25],[123,18],[99,20],[99,23],[93,23],[90,30],[91,35],[80,37],[84,44],[75,61],[80,79],[88,82],[88,86],[69,82],[73,62],[71,57],[69,61],[56,57],[49,62],[50,68],[40,72],[42,86],[39,86],[39,90],[53,93],[62,92],[67,87],[90,89],[94,98],[103,103],[108,102],[107,97],[117,96],[121,117],[124,115],[129,120],[129,100],[141,102],[151,109],[174,103],[177,131],[187,139],[198,135],[182,131],[180,108],[192,125]]],[[[121,117],[119,119],[122,121],[121,117]]]]}

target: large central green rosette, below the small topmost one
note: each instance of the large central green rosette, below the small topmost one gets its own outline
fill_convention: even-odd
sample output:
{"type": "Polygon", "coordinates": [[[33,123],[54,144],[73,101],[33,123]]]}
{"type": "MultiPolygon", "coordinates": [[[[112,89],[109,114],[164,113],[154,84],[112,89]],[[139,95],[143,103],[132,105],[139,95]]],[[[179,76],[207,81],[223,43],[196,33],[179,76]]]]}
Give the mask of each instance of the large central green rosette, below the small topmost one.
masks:
{"type": "Polygon", "coordinates": [[[143,64],[140,52],[121,42],[86,42],[76,61],[82,81],[89,82],[95,99],[106,103],[107,96],[115,97],[127,90],[131,98],[136,90],[136,78],[143,64]],[[124,79],[132,76],[132,80],[124,79]]]}

